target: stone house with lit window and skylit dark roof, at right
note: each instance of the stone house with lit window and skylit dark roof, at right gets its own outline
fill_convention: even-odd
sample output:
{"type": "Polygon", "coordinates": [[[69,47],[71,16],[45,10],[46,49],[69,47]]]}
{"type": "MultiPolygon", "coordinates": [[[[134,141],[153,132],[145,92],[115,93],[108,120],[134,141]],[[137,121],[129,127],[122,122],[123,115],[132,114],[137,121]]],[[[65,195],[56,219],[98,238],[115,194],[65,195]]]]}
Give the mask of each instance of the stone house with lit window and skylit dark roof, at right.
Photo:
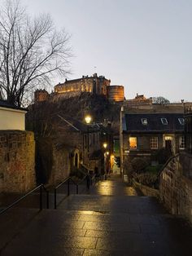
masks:
{"type": "Polygon", "coordinates": [[[146,157],[151,164],[158,164],[155,152],[167,148],[173,154],[185,149],[184,115],[182,113],[129,113],[121,111],[120,161],[146,157]]]}

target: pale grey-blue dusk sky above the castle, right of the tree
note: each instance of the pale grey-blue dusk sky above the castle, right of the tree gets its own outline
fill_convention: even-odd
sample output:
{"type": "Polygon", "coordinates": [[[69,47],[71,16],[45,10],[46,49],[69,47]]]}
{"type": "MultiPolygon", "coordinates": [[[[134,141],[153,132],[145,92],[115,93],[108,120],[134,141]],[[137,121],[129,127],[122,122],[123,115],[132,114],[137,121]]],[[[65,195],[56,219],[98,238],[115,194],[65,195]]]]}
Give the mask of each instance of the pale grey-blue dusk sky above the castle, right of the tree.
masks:
{"type": "Polygon", "coordinates": [[[98,73],[123,85],[127,99],[138,93],[192,101],[191,0],[21,2],[72,34],[69,79],[98,73]]]}

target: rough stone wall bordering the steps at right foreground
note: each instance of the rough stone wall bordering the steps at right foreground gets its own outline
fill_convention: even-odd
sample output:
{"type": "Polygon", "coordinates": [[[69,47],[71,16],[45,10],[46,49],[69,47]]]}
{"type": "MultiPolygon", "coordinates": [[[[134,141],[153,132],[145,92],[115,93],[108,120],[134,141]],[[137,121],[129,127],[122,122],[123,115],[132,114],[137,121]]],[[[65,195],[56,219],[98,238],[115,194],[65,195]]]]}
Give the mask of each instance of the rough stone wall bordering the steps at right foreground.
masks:
{"type": "Polygon", "coordinates": [[[185,163],[192,159],[182,155],[172,158],[164,167],[160,174],[159,192],[172,214],[184,215],[192,223],[192,177],[186,177],[184,171],[185,163]]]}

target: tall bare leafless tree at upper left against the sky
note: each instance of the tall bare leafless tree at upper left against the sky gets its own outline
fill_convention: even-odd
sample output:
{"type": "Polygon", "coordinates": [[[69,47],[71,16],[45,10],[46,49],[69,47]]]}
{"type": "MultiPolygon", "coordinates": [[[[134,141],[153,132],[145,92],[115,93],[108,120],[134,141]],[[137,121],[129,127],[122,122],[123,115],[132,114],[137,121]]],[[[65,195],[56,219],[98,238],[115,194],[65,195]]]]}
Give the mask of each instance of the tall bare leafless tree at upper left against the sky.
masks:
{"type": "Polygon", "coordinates": [[[55,74],[68,73],[71,48],[65,30],[50,15],[31,19],[20,1],[7,0],[0,11],[0,99],[20,107],[24,96],[55,74]]]}

